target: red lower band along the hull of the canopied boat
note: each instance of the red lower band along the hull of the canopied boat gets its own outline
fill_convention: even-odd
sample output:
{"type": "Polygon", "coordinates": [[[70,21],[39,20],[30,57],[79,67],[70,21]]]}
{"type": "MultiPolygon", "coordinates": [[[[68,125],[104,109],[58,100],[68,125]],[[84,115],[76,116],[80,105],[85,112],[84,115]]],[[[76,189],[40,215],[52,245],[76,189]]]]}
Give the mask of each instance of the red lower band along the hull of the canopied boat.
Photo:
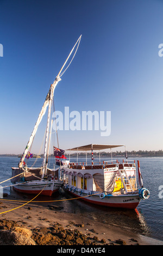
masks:
{"type": "Polygon", "coordinates": [[[91,199],[87,199],[85,197],[80,197],[77,194],[74,194],[70,191],[67,191],[68,193],[73,194],[73,196],[80,198],[81,200],[84,200],[86,202],[89,202],[91,204],[96,204],[96,205],[103,205],[103,206],[108,206],[108,207],[112,207],[112,208],[125,208],[125,209],[133,209],[135,210],[137,205],[139,205],[140,202],[137,203],[104,203],[104,202],[98,202],[98,201],[94,201],[91,199]]]}

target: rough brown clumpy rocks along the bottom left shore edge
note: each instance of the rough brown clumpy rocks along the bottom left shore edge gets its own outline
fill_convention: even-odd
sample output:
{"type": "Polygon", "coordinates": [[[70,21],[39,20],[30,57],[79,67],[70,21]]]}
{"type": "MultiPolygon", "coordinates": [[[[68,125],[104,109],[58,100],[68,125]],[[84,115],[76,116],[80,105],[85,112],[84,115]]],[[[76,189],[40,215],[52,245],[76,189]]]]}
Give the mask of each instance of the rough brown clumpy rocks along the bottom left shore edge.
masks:
{"type": "MultiPolygon", "coordinates": [[[[77,225],[78,226],[78,225],[77,225]]],[[[118,242],[119,243],[119,242],[118,242]]],[[[121,241],[119,244],[125,244],[121,241]]],[[[0,220],[0,245],[114,245],[98,239],[92,233],[83,234],[78,229],[66,229],[58,222],[49,227],[30,229],[16,221],[0,220]]]]}

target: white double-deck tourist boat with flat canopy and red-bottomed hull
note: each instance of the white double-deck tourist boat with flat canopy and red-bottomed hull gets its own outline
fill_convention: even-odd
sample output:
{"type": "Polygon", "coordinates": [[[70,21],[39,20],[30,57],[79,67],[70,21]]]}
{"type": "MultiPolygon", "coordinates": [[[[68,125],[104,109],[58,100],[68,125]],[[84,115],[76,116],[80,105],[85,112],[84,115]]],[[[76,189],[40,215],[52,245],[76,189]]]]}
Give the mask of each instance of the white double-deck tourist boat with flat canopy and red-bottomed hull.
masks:
{"type": "Polygon", "coordinates": [[[128,160],[125,145],[89,144],[68,150],[77,151],[77,162],[63,161],[63,188],[86,202],[114,208],[136,209],[141,199],[149,198],[149,191],[143,187],[140,164],[138,164],[139,187],[136,182],[136,163],[128,160]],[[125,148],[126,159],[112,159],[112,148],[125,148]],[[100,150],[110,149],[111,160],[100,160],[100,150]],[[91,163],[78,162],[78,151],[92,151],[91,163]],[[93,151],[99,151],[99,162],[93,159],[93,151]]]}

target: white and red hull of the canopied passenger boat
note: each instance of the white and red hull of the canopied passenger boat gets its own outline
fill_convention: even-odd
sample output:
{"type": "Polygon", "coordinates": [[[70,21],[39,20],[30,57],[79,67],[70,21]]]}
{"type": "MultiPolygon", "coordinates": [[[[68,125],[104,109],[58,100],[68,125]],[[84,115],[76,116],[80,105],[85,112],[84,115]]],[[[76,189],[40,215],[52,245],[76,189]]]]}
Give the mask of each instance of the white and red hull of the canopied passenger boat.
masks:
{"type": "Polygon", "coordinates": [[[86,202],[96,204],[96,205],[103,205],[108,207],[115,207],[115,208],[126,208],[126,209],[136,209],[137,205],[139,205],[141,198],[139,197],[139,193],[133,194],[110,194],[105,196],[103,199],[99,197],[101,192],[94,191],[91,196],[88,196],[90,191],[83,191],[82,194],[79,194],[81,191],[77,188],[76,191],[73,191],[72,186],[64,186],[64,190],[68,193],[71,193],[73,196],[78,197],[86,202]]]}

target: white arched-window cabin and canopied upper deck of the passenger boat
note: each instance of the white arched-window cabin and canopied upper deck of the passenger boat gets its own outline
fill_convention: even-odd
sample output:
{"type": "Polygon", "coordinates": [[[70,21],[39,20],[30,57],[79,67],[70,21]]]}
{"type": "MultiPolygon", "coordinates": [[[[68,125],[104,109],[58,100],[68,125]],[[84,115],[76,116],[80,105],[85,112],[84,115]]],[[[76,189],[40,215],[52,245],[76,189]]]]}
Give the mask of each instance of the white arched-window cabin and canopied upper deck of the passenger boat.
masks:
{"type": "MultiPolygon", "coordinates": [[[[69,149],[77,151],[77,161],[64,161],[62,166],[62,174],[64,176],[65,185],[69,190],[82,190],[92,192],[110,193],[129,193],[137,191],[136,185],[136,165],[135,161],[118,161],[111,160],[102,161],[100,151],[104,149],[112,149],[122,147],[123,145],[102,145],[90,144],[82,147],[69,149]],[[92,151],[91,161],[87,161],[87,151],[92,151]],[[99,151],[99,161],[95,162],[93,151],[99,151]],[[78,162],[78,151],[86,151],[86,161],[78,162]]],[[[125,147],[125,146],[124,146],[125,147]]],[[[126,149],[126,147],[125,147],[126,149]]],[[[126,154],[127,157],[127,154],[126,154]]]]}

